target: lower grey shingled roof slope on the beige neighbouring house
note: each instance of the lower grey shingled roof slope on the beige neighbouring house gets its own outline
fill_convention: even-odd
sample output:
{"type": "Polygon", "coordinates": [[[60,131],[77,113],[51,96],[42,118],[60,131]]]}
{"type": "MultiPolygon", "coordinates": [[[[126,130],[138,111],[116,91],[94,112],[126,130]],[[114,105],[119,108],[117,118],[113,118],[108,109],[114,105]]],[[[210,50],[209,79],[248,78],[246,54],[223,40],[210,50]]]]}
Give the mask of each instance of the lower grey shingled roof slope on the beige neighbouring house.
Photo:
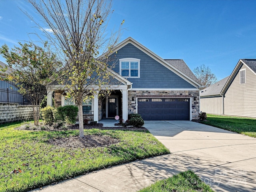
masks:
{"type": "Polygon", "coordinates": [[[230,76],[227,76],[226,78],[208,86],[207,88],[200,91],[200,97],[206,97],[206,96],[220,96],[220,92],[222,91],[224,85],[226,84],[228,78],[230,76]]]}

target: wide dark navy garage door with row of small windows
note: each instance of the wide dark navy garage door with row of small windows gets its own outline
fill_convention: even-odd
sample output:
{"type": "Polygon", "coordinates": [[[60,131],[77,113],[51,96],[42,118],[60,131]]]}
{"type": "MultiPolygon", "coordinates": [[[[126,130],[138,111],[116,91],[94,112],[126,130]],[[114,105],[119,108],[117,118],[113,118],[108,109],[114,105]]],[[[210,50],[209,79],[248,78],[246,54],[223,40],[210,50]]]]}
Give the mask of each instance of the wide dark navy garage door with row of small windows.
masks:
{"type": "Polygon", "coordinates": [[[189,120],[188,98],[138,98],[144,120],[189,120]]]}

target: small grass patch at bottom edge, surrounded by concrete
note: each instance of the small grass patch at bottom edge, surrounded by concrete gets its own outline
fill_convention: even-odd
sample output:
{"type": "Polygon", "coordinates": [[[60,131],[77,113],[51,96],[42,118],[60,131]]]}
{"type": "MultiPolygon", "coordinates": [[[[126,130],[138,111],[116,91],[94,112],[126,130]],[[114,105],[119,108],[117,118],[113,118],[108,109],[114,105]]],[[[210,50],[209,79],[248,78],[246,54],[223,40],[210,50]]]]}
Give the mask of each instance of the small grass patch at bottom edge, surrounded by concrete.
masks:
{"type": "Polygon", "coordinates": [[[139,192],[214,192],[192,171],[180,172],[168,179],[160,180],[139,192]]]}

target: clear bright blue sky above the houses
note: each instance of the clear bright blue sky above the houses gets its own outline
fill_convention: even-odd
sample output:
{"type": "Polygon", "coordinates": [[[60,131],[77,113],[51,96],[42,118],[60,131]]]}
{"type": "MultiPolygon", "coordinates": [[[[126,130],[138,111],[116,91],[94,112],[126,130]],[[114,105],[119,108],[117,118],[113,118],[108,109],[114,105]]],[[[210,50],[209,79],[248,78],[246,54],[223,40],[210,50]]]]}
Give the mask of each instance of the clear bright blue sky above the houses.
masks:
{"type": "MultiPolygon", "coordinates": [[[[24,0],[0,0],[0,46],[37,40],[39,30],[18,7],[37,17],[24,0]]],[[[109,28],[125,20],[121,41],[131,36],[191,70],[205,64],[218,80],[239,59],[256,58],[256,0],[114,0],[112,8],[109,28]]]]}

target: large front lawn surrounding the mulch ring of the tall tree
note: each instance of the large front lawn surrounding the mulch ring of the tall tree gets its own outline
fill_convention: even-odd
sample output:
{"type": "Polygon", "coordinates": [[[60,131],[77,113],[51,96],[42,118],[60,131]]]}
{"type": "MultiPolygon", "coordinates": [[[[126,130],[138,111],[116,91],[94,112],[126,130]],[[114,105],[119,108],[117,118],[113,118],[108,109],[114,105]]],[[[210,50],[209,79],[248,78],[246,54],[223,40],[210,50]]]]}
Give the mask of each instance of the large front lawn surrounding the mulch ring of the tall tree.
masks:
{"type": "Polygon", "coordinates": [[[0,192],[31,190],[100,168],[169,153],[149,132],[84,130],[85,134],[106,135],[120,142],[109,147],[71,149],[47,141],[77,136],[78,130],[14,130],[18,126],[20,123],[0,125],[0,192]],[[10,174],[18,168],[21,173],[10,174]]]}

